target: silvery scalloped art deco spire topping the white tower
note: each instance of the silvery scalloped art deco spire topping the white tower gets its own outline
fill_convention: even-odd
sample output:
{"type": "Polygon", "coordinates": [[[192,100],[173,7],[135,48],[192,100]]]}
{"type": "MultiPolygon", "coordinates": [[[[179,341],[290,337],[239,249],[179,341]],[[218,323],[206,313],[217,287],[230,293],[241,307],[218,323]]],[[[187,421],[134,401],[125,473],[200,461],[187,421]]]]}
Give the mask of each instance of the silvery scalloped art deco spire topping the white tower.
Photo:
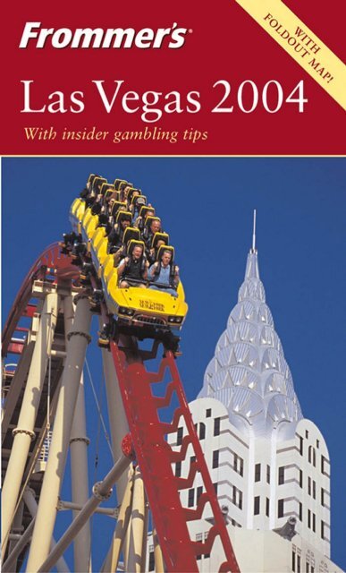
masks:
{"type": "Polygon", "coordinates": [[[256,211],[252,248],[238,304],[219,338],[198,395],[206,397],[220,400],[235,426],[257,436],[270,436],[277,429],[287,438],[302,418],[290,368],[259,278],[256,211]]]}

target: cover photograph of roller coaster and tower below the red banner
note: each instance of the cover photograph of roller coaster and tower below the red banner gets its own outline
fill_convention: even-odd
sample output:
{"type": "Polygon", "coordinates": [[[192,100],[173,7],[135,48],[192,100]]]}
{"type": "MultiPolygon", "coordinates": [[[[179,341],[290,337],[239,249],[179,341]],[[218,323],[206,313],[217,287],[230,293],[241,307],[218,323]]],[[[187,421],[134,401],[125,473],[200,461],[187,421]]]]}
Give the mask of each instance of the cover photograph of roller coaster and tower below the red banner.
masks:
{"type": "MultiPolygon", "coordinates": [[[[344,158],[3,159],[4,570],[159,570],[178,538],[188,563],[220,515],[241,571],[346,567],[345,175],[344,158]],[[155,450],[163,364],[176,424],[155,450]],[[109,496],[121,395],[143,481],[126,458],[109,496]],[[188,526],[179,484],[183,508],[207,499],[188,526]]],[[[223,539],[199,570],[230,563],[223,539]]]]}

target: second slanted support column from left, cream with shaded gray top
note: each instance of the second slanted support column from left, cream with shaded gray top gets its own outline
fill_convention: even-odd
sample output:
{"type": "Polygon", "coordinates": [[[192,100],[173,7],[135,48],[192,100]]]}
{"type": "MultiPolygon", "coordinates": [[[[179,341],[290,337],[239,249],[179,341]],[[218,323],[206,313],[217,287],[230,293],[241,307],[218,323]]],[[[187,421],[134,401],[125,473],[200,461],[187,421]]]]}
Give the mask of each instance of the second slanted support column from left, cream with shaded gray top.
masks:
{"type": "Polygon", "coordinates": [[[32,535],[27,571],[38,571],[46,560],[52,539],[56,507],[63,482],[63,472],[71,437],[74,409],[80,388],[80,374],[90,341],[91,312],[86,297],[80,297],[76,306],[73,329],[69,333],[66,361],[54,422],[52,442],[46,464],[38,515],[32,535]]]}

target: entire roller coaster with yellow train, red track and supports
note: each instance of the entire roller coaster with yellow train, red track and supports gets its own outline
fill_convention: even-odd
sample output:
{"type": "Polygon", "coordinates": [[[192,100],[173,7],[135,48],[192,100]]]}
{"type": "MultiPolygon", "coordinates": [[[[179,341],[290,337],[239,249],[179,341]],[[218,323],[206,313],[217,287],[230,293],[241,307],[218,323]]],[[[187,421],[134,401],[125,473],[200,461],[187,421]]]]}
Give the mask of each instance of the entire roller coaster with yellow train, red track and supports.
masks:
{"type": "Polygon", "coordinates": [[[90,519],[97,512],[116,517],[101,571],[147,570],[150,526],[156,571],[197,572],[199,556],[217,540],[219,571],[237,572],[177,369],[188,307],[169,235],[152,231],[160,218],[139,189],[98,175],[73,201],[70,220],[72,232],[35,261],[4,325],[3,571],[92,571],[98,548],[90,519]],[[118,244],[111,242],[113,229],[118,244]],[[136,246],[141,274],[133,278],[128,263],[136,246]],[[163,252],[169,272],[160,284],[163,252]],[[82,372],[95,315],[114,466],[90,494],[82,372]],[[69,453],[71,501],[60,497],[69,453]],[[185,458],[190,471],[178,477],[174,467],[185,458]],[[203,492],[196,507],[186,508],[181,491],[197,475],[203,492]],[[116,507],[99,507],[115,484],[116,507]],[[72,521],[55,540],[62,509],[72,510],[72,521]],[[212,517],[207,539],[192,540],[189,524],[206,515],[212,517]],[[72,543],[69,569],[63,553],[72,543]]]}

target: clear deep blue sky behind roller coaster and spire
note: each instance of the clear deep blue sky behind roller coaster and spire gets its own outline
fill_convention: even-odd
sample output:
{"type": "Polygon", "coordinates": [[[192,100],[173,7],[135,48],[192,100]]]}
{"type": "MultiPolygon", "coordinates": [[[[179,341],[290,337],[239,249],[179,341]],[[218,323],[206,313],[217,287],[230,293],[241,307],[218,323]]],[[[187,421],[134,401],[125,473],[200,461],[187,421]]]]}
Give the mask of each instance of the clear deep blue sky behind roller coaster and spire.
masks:
{"type": "MultiPolygon", "coordinates": [[[[237,302],[257,209],[266,301],[303,414],[330,452],[332,559],[345,568],[345,158],[4,158],[2,171],[4,320],[31,263],[69,231],[70,205],[89,173],[128,179],[148,195],[190,305],[178,363],[189,400],[237,302]]],[[[97,363],[96,350],[89,360],[97,363]]],[[[95,442],[97,413],[87,403],[95,442]]],[[[102,435],[99,449],[105,474],[102,435]]]]}

